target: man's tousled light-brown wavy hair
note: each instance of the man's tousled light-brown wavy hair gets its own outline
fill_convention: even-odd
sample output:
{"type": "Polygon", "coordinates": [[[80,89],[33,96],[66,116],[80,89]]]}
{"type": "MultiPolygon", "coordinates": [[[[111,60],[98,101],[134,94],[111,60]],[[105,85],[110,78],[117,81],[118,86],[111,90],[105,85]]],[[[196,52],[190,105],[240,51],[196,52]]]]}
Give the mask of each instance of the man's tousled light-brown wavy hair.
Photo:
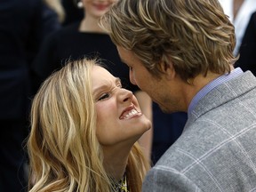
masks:
{"type": "Polygon", "coordinates": [[[170,60],[184,81],[236,61],[235,30],[218,0],[118,0],[100,26],[156,77],[170,60]]]}

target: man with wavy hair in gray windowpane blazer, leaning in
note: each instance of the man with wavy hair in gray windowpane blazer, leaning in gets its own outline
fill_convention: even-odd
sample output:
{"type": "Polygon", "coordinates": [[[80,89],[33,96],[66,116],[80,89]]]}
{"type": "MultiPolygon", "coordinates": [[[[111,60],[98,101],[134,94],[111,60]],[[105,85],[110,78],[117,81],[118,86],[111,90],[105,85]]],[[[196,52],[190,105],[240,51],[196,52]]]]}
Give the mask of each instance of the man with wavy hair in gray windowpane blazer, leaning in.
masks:
{"type": "Polygon", "coordinates": [[[218,0],[119,0],[101,20],[130,80],[164,112],[188,112],[142,191],[256,188],[256,77],[234,68],[234,26],[218,0]]]}

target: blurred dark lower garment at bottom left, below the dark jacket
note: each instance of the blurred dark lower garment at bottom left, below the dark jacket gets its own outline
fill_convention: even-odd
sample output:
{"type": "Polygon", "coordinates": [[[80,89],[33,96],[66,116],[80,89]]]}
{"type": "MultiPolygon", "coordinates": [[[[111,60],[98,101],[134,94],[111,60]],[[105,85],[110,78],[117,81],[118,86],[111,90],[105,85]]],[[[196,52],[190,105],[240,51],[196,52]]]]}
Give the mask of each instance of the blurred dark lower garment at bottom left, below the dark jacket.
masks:
{"type": "Polygon", "coordinates": [[[21,147],[28,136],[25,119],[1,120],[0,136],[0,191],[27,192],[27,154],[21,147]]]}

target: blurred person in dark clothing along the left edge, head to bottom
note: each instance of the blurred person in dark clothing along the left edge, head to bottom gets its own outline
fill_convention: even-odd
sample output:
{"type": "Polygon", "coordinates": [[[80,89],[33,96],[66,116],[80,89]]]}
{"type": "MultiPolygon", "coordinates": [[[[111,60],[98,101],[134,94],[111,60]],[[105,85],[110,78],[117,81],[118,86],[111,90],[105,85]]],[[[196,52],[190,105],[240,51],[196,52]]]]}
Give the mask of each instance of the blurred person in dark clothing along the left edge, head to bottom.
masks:
{"type": "Polygon", "coordinates": [[[56,14],[41,0],[0,1],[1,192],[25,191],[21,144],[28,135],[30,67],[44,36],[57,28],[56,14]]]}

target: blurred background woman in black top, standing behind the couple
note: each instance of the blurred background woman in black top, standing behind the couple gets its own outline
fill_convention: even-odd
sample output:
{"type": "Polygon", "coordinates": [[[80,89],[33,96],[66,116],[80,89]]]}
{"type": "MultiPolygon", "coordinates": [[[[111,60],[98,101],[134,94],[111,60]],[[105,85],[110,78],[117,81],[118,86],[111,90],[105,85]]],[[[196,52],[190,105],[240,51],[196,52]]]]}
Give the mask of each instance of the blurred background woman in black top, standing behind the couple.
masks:
{"type": "MultiPolygon", "coordinates": [[[[82,0],[80,4],[84,9],[83,20],[61,28],[45,39],[32,66],[35,76],[38,77],[33,83],[38,80],[35,85],[37,87],[52,74],[52,71],[62,68],[65,60],[81,59],[84,55],[87,58],[100,57],[106,60],[105,64],[111,74],[120,77],[124,86],[135,94],[143,113],[152,119],[152,101],[148,94],[141,92],[138,86],[129,82],[129,68],[123,65],[116,45],[99,26],[100,17],[108,12],[115,2],[116,0],[82,0]]],[[[153,130],[150,130],[139,140],[148,160],[150,160],[152,135],[153,130]]]]}

